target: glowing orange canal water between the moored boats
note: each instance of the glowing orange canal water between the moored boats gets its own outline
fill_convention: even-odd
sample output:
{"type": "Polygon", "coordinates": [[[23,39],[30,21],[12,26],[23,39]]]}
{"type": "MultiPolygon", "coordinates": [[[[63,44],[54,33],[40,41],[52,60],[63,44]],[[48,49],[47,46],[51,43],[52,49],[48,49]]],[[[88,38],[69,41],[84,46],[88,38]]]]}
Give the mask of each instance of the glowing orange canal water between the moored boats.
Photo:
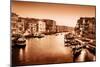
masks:
{"type": "MultiPolygon", "coordinates": [[[[78,59],[79,60],[79,59],[78,59]]],[[[64,46],[64,35],[26,39],[25,48],[12,48],[13,65],[73,62],[73,51],[64,46]]]]}

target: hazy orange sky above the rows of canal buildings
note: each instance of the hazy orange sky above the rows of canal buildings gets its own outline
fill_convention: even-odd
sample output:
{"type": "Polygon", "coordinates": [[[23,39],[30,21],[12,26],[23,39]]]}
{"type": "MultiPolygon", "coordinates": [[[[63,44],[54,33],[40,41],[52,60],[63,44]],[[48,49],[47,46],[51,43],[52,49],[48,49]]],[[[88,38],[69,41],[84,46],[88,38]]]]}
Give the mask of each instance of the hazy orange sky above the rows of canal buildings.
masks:
{"type": "Polygon", "coordinates": [[[12,2],[12,12],[22,17],[53,19],[57,25],[74,27],[80,17],[95,17],[95,6],[12,2]]]}

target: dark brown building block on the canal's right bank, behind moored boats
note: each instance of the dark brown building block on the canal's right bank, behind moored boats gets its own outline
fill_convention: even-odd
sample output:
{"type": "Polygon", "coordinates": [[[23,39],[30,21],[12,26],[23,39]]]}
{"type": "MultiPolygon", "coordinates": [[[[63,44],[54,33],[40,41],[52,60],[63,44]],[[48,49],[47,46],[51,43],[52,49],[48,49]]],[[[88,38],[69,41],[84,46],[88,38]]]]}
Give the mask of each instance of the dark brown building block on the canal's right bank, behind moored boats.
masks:
{"type": "Polygon", "coordinates": [[[80,37],[95,38],[96,19],[94,17],[81,17],[75,26],[75,33],[80,37]]]}

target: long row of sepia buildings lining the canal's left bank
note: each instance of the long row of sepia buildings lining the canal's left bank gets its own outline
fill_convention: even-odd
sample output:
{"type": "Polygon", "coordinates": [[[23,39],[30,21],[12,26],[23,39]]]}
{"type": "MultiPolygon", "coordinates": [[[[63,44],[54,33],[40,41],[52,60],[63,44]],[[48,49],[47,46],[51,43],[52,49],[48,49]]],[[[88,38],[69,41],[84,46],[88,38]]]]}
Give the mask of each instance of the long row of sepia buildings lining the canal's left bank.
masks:
{"type": "Polygon", "coordinates": [[[51,19],[23,18],[15,13],[12,13],[11,18],[13,34],[34,35],[35,33],[53,34],[72,31],[68,26],[56,25],[56,21],[51,19]]]}

